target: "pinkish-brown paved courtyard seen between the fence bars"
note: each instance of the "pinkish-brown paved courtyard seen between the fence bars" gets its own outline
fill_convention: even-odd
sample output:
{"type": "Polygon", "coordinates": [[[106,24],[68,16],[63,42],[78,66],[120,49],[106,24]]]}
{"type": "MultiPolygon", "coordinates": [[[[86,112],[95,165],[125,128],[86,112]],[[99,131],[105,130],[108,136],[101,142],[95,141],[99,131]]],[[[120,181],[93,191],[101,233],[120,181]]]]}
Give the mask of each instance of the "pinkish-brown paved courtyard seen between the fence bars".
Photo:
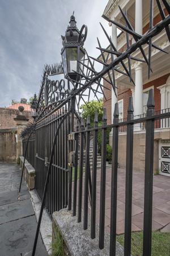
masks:
{"type": "MultiPolygon", "coordinates": [[[[132,231],[143,229],[144,173],[133,173],[132,231]]],[[[117,234],[124,233],[125,170],[118,169],[117,234]]],[[[155,175],[153,188],[152,229],[170,232],[170,177],[155,175]]],[[[100,170],[97,170],[97,221],[100,209],[100,170]]],[[[107,169],[105,229],[109,232],[111,218],[111,168],[107,169]]]]}

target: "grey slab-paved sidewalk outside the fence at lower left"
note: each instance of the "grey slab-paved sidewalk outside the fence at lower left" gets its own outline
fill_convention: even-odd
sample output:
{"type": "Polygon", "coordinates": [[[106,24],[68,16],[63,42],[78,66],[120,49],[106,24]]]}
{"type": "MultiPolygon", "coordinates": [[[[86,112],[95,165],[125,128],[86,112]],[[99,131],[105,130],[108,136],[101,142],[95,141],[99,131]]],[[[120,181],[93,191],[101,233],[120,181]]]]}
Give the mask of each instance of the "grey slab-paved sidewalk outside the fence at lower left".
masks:
{"type": "MultiPolygon", "coordinates": [[[[21,170],[17,164],[0,163],[0,255],[31,255],[37,221],[30,194],[23,181],[20,200],[18,189],[21,170]]],[[[36,256],[48,255],[41,236],[36,256]]]]}

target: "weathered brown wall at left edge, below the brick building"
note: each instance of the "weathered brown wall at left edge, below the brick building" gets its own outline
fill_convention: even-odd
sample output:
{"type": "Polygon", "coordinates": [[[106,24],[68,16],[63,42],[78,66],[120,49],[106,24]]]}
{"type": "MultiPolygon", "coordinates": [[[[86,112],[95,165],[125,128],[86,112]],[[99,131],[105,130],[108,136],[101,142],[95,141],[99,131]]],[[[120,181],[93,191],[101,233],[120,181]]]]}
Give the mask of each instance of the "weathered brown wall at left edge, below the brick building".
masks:
{"type": "Polygon", "coordinates": [[[16,160],[16,128],[0,129],[0,161],[16,160]]]}

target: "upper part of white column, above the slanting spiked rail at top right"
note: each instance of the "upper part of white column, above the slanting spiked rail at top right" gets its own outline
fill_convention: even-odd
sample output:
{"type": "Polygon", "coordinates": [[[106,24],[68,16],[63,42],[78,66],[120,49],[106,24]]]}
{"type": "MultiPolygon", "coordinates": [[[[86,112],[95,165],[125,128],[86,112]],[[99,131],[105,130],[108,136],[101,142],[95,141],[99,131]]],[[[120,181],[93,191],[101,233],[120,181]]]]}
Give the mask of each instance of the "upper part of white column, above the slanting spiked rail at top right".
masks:
{"type": "Polygon", "coordinates": [[[142,0],[135,1],[135,31],[142,35],[142,0]]]}

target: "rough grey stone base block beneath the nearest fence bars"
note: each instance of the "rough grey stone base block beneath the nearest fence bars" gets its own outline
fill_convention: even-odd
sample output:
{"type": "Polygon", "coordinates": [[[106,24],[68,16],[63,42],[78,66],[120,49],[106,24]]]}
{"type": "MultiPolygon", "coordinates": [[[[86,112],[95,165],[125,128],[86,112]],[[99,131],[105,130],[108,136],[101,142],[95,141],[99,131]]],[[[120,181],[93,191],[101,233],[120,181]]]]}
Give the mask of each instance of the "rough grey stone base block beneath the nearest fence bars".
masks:
{"type": "MultiPolygon", "coordinates": [[[[82,218],[83,219],[83,218],[82,218]]],[[[83,222],[83,221],[82,221],[83,222]]],[[[99,226],[96,225],[96,238],[90,237],[90,216],[88,218],[88,229],[83,230],[83,223],[77,222],[77,216],[73,217],[67,209],[59,210],[53,213],[53,241],[54,229],[57,229],[63,238],[63,250],[65,255],[70,256],[107,256],[109,255],[108,233],[105,233],[105,247],[99,249],[99,226]]],[[[53,253],[52,253],[53,255],[53,253]]],[[[124,247],[117,243],[116,255],[124,255],[124,247]]]]}

